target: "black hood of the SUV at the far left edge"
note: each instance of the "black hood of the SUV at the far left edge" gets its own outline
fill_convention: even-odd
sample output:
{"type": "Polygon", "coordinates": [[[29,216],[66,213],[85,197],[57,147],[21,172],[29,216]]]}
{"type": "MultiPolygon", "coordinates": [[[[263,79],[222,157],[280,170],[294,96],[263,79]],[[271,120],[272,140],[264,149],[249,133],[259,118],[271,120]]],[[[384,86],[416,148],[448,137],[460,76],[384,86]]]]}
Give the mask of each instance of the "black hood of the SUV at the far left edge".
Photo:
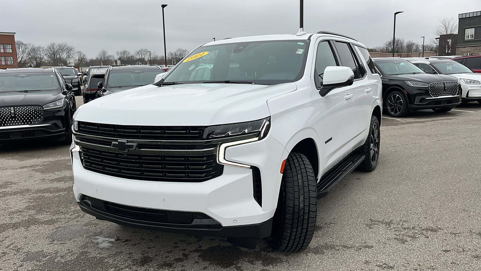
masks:
{"type": "Polygon", "coordinates": [[[65,95],[58,91],[32,91],[0,93],[0,107],[3,106],[44,106],[48,103],[60,100],[65,95]]]}

